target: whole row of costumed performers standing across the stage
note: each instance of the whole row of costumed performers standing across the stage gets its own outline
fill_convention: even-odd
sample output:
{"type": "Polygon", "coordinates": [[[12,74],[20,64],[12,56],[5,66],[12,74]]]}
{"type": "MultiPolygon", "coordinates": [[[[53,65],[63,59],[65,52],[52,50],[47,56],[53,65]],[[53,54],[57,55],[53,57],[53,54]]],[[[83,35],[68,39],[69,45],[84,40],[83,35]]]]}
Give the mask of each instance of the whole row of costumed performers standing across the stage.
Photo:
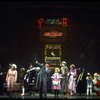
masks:
{"type": "MultiPolygon", "coordinates": [[[[47,98],[48,90],[52,91],[55,98],[58,98],[59,93],[65,98],[76,93],[79,95],[82,93],[92,95],[93,84],[95,85],[97,79],[100,79],[98,73],[95,73],[94,77],[92,77],[90,73],[85,72],[84,68],[76,68],[75,64],[71,64],[68,67],[66,61],[62,61],[60,67],[55,67],[54,71],[50,68],[50,62],[42,64],[36,61],[35,63],[37,67],[33,67],[30,64],[27,70],[22,67],[20,71],[17,70],[16,64],[9,64],[10,68],[6,73],[9,95],[12,95],[16,83],[21,85],[21,95],[25,95],[26,87],[29,83],[34,83],[35,88],[33,91],[37,91],[40,98],[47,98]]],[[[0,79],[1,75],[3,74],[0,69],[0,79]]],[[[3,85],[3,81],[0,84],[3,85]]],[[[100,91],[100,88],[95,87],[95,89],[100,91]]]]}

